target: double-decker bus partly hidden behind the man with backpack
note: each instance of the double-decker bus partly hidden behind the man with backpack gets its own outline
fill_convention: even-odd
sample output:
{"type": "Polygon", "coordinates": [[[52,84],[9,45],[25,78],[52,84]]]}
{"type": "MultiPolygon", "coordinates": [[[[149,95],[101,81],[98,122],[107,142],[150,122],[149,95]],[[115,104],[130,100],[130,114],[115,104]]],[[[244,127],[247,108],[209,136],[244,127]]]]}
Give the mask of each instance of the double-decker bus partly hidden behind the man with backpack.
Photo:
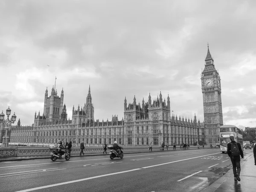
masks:
{"type": "Polygon", "coordinates": [[[220,151],[222,153],[227,152],[227,143],[230,143],[230,136],[234,136],[235,141],[243,146],[243,134],[242,130],[234,125],[222,125],[220,126],[220,151]]]}

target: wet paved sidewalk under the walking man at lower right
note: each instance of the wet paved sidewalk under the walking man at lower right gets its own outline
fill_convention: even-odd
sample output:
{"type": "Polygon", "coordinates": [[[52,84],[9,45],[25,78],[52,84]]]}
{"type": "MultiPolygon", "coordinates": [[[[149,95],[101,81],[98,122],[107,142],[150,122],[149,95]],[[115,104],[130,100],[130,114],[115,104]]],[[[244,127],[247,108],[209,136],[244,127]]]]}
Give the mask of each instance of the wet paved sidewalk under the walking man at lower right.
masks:
{"type": "MultiPolygon", "coordinates": [[[[230,161],[231,162],[231,161],[230,161]]],[[[241,161],[241,181],[235,181],[233,169],[212,183],[203,192],[253,192],[256,190],[256,166],[253,153],[241,161]]]]}

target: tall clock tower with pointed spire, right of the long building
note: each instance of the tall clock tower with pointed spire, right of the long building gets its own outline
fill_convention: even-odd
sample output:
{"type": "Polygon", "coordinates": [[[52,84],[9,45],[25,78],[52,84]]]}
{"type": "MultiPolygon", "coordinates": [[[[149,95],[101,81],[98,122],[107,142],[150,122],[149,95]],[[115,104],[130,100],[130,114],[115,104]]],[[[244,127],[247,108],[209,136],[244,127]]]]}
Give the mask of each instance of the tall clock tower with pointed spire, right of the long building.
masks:
{"type": "Polygon", "coordinates": [[[206,143],[218,143],[219,127],[223,125],[221,103],[221,78],[215,69],[212,55],[208,51],[205,58],[204,71],[201,74],[204,126],[206,143]]]}

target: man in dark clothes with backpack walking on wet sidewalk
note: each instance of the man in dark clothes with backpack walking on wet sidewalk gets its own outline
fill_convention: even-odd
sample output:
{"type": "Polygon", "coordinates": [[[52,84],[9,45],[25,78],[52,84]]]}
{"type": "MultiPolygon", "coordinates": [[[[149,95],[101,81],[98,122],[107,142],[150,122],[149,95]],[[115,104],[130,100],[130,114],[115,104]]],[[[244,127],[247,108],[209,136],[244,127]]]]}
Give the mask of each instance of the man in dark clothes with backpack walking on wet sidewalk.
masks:
{"type": "Polygon", "coordinates": [[[230,136],[231,142],[227,144],[227,154],[230,157],[230,160],[233,165],[233,174],[234,174],[234,180],[240,181],[240,172],[241,172],[241,166],[240,166],[240,155],[241,158],[244,158],[244,153],[241,148],[240,143],[236,143],[234,136],[230,136]]]}

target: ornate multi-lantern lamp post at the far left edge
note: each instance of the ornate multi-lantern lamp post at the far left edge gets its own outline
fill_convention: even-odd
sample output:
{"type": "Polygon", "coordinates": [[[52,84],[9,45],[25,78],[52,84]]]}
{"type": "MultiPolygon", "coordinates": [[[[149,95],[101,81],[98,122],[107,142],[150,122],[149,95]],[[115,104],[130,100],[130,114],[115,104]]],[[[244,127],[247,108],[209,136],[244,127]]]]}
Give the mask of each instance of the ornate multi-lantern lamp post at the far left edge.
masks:
{"type": "Polygon", "coordinates": [[[11,126],[12,123],[14,123],[16,121],[16,117],[17,117],[14,113],[12,115],[12,118],[9,119],[9,116],[11,114],[11,109],[9,107],[8,107],[8,109],[6,109],[7,119],[4,118],[5,114],[3,113],[3,111],[0,114],[0,123],[2,123],[3,125],[6,125],[6,127],[5,127],[6,133],[5,133],[5,136],[3,136],[2,147],[8,147],[9,146],[9,137],[8,137],[9,125],[11,126]]]}

